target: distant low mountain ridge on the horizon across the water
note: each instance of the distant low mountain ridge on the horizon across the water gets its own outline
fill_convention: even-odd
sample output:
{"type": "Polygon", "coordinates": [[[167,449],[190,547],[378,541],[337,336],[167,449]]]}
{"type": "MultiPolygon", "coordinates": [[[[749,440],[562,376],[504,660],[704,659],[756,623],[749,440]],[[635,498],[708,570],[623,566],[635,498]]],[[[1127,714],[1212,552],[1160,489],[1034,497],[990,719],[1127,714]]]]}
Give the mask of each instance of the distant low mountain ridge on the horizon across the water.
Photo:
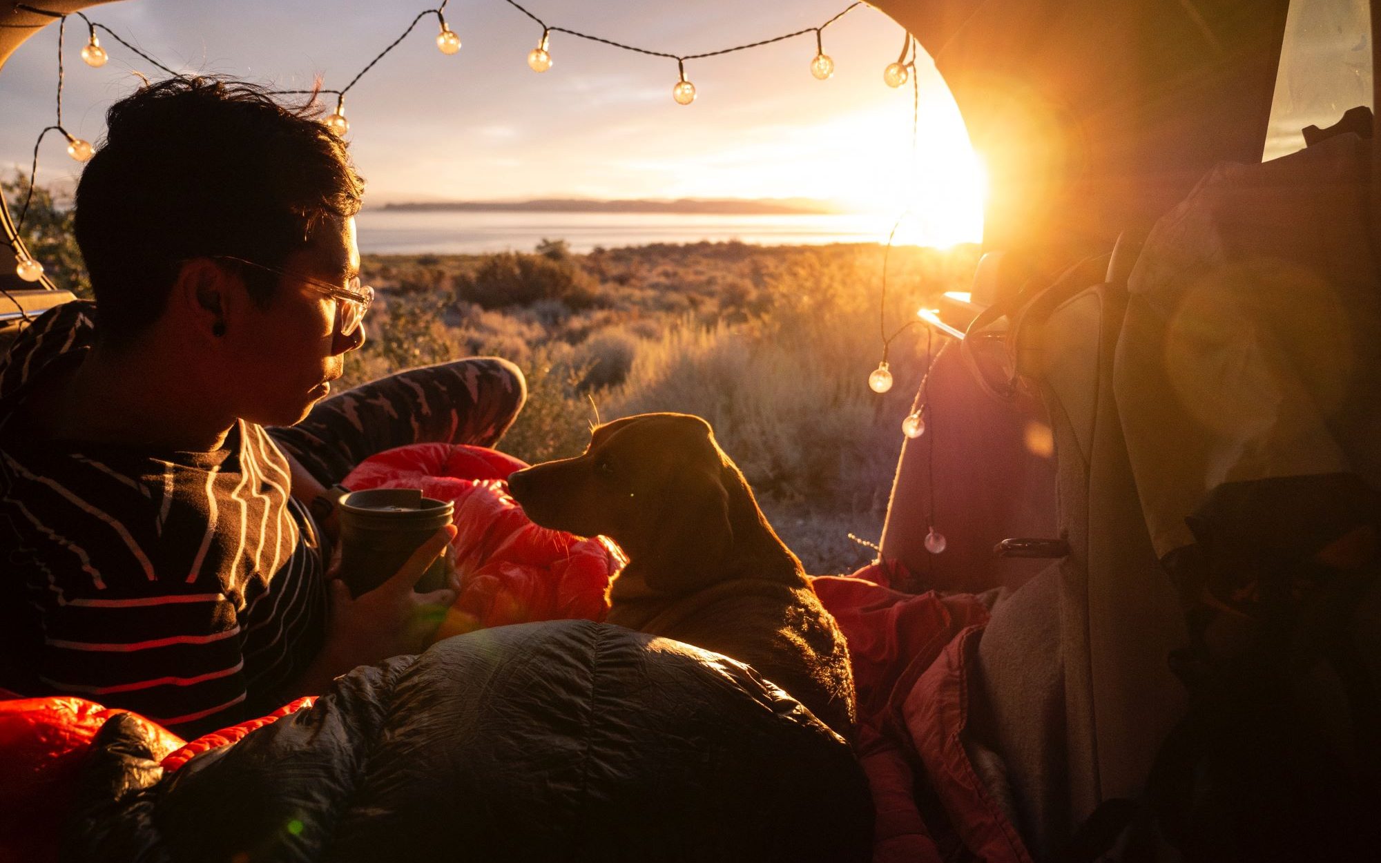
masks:
{"type": "Polygon", "coordinates": [[[844,213],[829,202],[808,197],[778,199],[703,199],[679,197],[677,200],[624,199],[594,200],[586,197],[541,197],[534,200],[453,200],[453,202],[410,202],[389,203],[378,207],[394,211],[470,211],[470,213],[690,213],[713,215],[783,215],[783,214],[834,214],[844,213]]]}

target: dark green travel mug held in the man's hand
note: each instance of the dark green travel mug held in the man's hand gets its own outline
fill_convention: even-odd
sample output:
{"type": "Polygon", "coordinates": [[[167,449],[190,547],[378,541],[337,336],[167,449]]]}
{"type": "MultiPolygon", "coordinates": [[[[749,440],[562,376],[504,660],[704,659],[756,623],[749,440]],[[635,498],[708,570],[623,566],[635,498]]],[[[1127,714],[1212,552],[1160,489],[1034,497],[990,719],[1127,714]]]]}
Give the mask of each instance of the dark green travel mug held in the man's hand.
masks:
{"type": "MultiPolygon", "coordinates": [[[[423,497],[421,489],[369,489],[340,498],[340,577],[352,597],[367,594],[407,562],[436,530],[452,521],[454,504],[423,497]]],[[[446,551],[436,556],[413,588],[428,592],[446,585],[446,551]]]]}

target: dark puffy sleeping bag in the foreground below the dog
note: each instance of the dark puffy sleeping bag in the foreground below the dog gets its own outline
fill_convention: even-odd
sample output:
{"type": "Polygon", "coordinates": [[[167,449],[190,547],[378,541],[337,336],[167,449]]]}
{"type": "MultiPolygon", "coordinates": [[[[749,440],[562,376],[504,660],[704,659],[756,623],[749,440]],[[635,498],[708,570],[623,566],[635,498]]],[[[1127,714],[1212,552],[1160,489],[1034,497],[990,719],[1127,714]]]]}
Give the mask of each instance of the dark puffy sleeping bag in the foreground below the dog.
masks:
{"type": "Polygon", "coordinates": [[[849,747],[749,667],[584,620],[356,668],[175,773],[102,728],[73,860],[867,860],[849,747]]]}

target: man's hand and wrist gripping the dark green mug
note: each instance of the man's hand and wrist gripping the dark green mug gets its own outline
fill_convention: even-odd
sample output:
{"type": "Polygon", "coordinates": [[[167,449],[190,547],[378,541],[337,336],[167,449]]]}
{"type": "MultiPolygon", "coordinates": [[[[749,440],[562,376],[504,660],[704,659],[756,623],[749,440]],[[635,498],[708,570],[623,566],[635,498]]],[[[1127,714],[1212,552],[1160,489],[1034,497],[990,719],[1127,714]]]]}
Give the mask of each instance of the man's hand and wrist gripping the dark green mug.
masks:
{"type": "Polygon", "coordinates": [[[331,605],[326,645],[293,688],[297,692],[290,695],[320,695],[333,678],[356,666],[402,653],[420,653],[456,601],[460,584],[452,570],[450,587],[429,594],[416,594],[413,587],[454,537],[453,525],[439,529],[388,581],[354,598],[345,583],[336,577],[337,554],[327,572],[331,605]]]}

